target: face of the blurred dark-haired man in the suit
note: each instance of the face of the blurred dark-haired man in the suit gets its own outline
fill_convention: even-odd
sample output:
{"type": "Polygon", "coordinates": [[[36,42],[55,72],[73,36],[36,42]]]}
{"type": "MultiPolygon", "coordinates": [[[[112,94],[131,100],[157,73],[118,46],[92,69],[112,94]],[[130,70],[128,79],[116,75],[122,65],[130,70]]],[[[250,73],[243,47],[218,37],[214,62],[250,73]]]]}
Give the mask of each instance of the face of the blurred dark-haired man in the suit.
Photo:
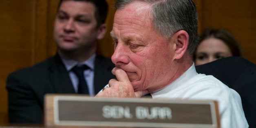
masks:
{"type": "Polygon", "coordinates": [[[54,38],[61,51],[90,49],[98,39],[95,6],[64,0],[55,18],[54,38]]]}

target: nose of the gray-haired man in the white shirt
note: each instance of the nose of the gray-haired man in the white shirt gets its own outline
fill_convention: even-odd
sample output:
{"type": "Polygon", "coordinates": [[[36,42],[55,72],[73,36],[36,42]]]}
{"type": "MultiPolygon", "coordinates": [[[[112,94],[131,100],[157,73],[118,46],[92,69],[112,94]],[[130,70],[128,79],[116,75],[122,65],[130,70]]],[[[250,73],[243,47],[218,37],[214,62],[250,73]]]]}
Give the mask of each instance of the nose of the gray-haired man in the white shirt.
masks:
{"type": "Polygon", "coordinates": [[[115,50],[111,57],[111,60],[116,65],[128,64],[129,63],[128,55],[129,53],[126,46],[119,43],[115,46],[115,50]]]}

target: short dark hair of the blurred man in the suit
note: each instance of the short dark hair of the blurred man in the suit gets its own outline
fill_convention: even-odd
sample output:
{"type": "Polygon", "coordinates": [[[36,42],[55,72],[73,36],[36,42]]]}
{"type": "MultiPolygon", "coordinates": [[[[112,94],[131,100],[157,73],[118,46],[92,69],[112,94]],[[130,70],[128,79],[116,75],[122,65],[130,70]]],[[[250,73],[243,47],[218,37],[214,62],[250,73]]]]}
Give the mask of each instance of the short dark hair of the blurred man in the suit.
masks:
{"type": "MultiPolygon", "coordinates": [[[[64,0],[60,0],[58,5],[58,10],[60,5],[64,0]]],[[[73,1],[84,1],[91,2],[95,5],[95,18],[97,20],[97,26],[104,24],[108,14],[108,3],[105,0],[73,0],[73,1]]]]}

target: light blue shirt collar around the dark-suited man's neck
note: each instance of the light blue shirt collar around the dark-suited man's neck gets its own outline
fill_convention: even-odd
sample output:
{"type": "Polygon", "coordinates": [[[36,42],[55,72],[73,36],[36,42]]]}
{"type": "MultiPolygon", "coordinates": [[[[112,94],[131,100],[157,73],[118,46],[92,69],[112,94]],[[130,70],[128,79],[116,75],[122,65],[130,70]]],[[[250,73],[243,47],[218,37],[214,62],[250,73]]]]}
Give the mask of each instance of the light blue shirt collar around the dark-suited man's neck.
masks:
{"type": "Polygon", "coordinates": [[[76,65],[87,65],[91,70],[94,70],[94,62],[96,59],[96,53],[93,54],[88,60],[84,61],[84,62],[78,62],[72,59],[69,59],[67,57],[65,57],[64,55],[62,55],[60,52],[58,52],[60,55],[60,58],[63,62],[63,64],[65,65],[67,71],[70,71],[74,66],[76,65]]]}

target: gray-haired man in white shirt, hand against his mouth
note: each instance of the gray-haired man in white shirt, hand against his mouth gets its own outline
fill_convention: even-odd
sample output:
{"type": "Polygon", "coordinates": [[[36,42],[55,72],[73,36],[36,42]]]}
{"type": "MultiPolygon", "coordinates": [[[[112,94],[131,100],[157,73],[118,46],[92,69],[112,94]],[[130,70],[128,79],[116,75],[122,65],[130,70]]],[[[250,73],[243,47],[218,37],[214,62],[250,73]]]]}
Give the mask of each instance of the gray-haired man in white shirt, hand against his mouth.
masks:
{"type": "Polygon", "coordinates": [[[192,0],[117,0],[112,73],[97,97],[213,99],[221,127],[248,127],[241,98],[213,76],[196,73],[196,7],[192,0]]]}

